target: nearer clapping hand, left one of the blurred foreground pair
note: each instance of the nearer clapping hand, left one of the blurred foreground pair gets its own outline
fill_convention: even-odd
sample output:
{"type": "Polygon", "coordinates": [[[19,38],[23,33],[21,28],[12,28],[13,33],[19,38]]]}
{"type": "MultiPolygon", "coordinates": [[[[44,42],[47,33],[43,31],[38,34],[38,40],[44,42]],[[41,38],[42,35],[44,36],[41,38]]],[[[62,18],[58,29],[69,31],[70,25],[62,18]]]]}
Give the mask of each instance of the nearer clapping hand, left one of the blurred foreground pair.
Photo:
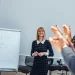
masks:
{"type": "Polygon", "coordinates": [[[66,45],[67,43],[63,38],[62,34],[60,33],[60,31],[57,29],[57,27],[52,26],[51,30],[58,37],[49,38],[49,41],[58,51],[60,51],[63,48],[63,46],[66,45]]]}

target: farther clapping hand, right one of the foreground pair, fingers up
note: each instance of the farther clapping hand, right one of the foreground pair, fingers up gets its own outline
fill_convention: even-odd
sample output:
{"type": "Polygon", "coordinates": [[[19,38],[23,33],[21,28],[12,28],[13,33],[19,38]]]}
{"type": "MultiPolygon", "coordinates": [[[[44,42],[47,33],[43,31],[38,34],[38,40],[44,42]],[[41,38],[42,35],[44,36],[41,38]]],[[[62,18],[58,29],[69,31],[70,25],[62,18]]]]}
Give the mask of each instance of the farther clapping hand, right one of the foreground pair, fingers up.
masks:
{"type": "Polygon", "coordinates": [[[71,28],[70,28],[70,26],[68,27],[67,25],[63,25],[63,29],[64,29],[66,40],[71,42],[72,37],[71,37],[71,28]]]}

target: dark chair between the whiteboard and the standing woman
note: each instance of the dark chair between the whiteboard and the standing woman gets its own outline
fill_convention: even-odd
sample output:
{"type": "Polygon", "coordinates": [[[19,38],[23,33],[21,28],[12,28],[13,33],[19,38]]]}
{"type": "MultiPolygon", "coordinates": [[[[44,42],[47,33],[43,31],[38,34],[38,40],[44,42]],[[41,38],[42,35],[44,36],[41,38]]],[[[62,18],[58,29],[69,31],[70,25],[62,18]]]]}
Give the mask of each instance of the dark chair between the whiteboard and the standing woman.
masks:
{"type": "Polygon", "coordinates": [[[34,57],[26,56],[25,57],[25,66],[19,65],[18,71],[25,73],[27,75],[31,71],[31,68],[33,66],[33,60],[34,60],[34,57]]]}

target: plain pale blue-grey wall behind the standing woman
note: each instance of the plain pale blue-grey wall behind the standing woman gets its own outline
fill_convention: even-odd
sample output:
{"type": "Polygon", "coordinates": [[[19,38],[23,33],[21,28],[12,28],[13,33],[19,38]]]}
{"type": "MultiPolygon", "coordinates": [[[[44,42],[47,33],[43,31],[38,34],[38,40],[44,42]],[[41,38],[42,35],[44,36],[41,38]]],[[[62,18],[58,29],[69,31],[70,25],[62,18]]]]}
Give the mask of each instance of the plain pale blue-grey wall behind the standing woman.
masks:
{"type": "Polygon", "coordinates": [[[0,27],[21,30],[20,54],[30,54],[38,27],[45,28],[48,39],[53,36],[50,26],[56,24],[70,25],[74,34],[75,0],[0,0],[0,27]]]}

